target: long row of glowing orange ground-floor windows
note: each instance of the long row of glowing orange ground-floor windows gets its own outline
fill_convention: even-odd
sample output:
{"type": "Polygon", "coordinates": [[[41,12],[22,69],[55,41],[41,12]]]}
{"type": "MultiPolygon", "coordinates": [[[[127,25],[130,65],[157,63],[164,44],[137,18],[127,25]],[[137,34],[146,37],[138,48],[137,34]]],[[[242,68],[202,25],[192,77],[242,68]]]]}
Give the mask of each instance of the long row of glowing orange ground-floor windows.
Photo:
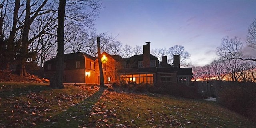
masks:
{"type": "Polygon", "coordinates": [[[153,84],[153,74],[134,74],[134,75],[121,75],[121,80],[132,81],[136,83],[150,83],[153,84]]]}

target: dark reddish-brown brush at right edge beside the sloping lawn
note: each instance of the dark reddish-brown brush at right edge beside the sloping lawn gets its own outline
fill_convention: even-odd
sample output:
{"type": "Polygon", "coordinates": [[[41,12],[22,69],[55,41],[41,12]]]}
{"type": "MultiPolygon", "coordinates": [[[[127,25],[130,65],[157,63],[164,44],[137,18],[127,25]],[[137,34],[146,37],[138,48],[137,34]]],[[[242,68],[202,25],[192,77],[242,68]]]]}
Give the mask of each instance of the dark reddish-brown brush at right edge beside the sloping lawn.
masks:
{"type": "Polygon", "coordinates": [[[228,109],[256,121],[256,83],[226,82],[220,91],[219,101],[228,109]]]}

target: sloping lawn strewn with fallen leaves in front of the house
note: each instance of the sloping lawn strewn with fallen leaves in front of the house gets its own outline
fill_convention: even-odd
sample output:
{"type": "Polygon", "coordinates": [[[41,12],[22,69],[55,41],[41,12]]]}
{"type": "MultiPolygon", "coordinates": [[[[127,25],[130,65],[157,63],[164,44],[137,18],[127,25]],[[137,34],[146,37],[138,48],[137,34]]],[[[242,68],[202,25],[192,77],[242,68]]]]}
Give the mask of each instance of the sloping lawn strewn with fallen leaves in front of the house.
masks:
{"type": "Polygon", "coordinates": [[[47,83],[1,83],[0,126],[12,127],[242,127],[255,124],[213,101],[152,93],[128,93],[122,88],[47,83]]]}

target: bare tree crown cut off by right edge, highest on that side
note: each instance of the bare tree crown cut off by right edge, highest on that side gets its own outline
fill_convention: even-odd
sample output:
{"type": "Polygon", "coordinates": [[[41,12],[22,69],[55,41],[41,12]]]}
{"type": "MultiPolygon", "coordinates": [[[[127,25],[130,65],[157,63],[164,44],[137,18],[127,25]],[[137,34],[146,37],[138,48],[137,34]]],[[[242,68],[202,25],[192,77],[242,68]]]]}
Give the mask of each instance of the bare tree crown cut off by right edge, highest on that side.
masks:
{"type": "Polygon", "coordinates": [[[256,18],[254,18],[247,31],[247,43],[250,47],[256,49],[256,18]]]}

